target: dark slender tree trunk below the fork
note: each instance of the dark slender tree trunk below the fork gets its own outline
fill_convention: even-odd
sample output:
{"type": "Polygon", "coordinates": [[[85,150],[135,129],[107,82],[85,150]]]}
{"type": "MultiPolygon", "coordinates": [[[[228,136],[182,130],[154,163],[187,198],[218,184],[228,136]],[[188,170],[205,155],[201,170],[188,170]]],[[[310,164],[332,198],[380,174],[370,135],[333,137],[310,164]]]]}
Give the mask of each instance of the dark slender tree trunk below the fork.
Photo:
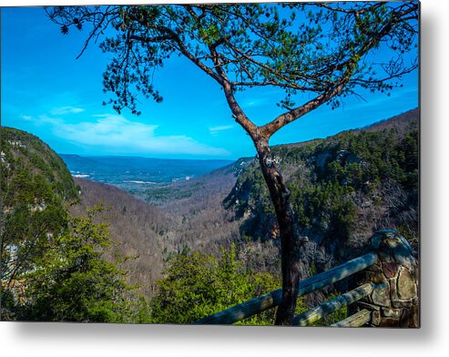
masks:
{"type": "Polygon", "coordinates": [[[285,185],[281,171],[275,166],[268,140],[255,140],[255,145],[281,234],[282,301],[276,314],[275,324],[291,325],[301,278],[299,259],[301,240],[291,208],[291,192],[285,185]]]}

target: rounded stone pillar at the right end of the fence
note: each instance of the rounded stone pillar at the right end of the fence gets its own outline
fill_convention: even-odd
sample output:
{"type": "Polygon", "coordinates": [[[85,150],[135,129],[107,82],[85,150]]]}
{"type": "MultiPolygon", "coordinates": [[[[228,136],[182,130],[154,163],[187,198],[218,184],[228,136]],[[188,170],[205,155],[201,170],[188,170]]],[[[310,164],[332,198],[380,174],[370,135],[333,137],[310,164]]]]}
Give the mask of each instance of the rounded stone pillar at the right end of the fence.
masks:
{"type": "Polygon", "coordinates": [[[371,248],[379,260],[363,275],[377,288],[357,302],[357,309],[372,311],[371,326],[418,328],[419,270],[412,247],[397,231],[379,230],[372,236],[371,248]]]}

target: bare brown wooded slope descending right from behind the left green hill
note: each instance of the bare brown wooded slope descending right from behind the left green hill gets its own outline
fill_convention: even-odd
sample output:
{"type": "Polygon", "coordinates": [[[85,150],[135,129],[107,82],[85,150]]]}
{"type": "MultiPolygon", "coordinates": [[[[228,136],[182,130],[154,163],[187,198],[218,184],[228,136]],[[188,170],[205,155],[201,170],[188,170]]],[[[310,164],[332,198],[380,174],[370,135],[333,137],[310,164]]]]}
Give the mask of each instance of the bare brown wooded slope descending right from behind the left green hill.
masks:
{"type": "Polygon", "coordinates": [[[75,181],[81,189],[81,199],[70,212],[86,216],[91,207],[103,205],[105,215],[97,222],[109,224],[111,238],[117,243],[115,251],[134,257],[123,265],[129,270],[129,282],[140,283],[141,291],[151,295],[164,268],[164,252],[178,251],[181,245],[173,236],[178,219],[114,186],[89,179],[75,181]]]}

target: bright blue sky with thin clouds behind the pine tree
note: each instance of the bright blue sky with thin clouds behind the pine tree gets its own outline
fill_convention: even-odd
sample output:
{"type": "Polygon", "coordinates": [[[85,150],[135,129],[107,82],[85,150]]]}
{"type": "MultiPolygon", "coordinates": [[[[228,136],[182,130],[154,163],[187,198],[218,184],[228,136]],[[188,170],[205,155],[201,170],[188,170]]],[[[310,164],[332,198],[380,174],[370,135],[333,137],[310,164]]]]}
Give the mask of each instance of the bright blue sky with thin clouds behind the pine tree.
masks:
{"type": "MultiPolygon", "coordinates": [[[[102,106],[107,55],[95,45],[79,59],[86,33],[62,36],[42,8],[2,8],[2,125],[46,141],[58,153],[132,155],[153,158],[240,158],[255,155],[250,138],[231,118],[219,86],[180,57],[155,76],[164,97],[144,101],[135,117],[102,106]]],[[[271,145],[325,138],[362,128],[418,106],[418,73],[406,76],[391,97],[349,98],[282,128],[271,145]]],[[[239,94],[248,116],[263,124],[281,114],[278,91],[256,88],[239,94]]],[[[307,99],[305,97],[304,99],[307,99]]]]}

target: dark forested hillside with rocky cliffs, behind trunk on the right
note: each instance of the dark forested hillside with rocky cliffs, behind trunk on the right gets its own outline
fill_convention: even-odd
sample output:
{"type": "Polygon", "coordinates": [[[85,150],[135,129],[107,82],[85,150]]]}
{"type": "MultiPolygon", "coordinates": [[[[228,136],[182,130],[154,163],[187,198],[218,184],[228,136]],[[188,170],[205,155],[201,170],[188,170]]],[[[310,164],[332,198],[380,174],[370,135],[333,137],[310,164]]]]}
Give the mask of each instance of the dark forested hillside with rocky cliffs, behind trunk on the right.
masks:
{"type": "MultiPolygon", "coordinates": [[[[273,149],[301,235],[303,259],[319,270],[356,256],[375,230],[418,245],[418,111],[363,130],[273,149]]],[[[248,240],[278,240],[268,191],[254,161],[224,201],[248,240]]]]}

